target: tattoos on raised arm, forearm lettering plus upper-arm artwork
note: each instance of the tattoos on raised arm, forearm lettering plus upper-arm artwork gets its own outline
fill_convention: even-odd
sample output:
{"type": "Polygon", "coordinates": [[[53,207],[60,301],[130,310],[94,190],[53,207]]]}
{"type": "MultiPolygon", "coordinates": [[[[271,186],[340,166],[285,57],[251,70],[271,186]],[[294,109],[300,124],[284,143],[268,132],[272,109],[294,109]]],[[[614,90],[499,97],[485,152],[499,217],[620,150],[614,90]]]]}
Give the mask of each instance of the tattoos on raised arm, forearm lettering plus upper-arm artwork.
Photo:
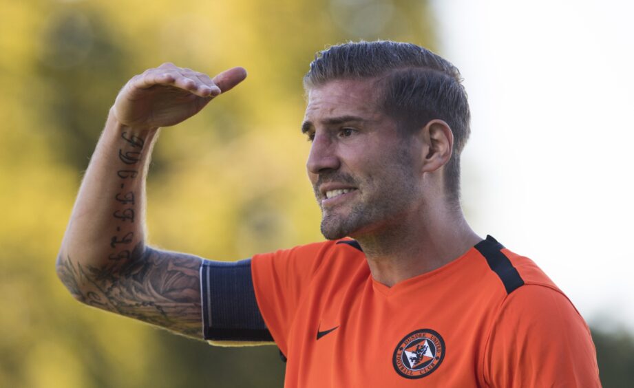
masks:
{"type": "Polygon", "coordinates": [[[59,257],[58,272],[76,299],[97,308],[166,327],[200,338],[200,283],[202,259],[146,247],[135,236],[141,204],[142,158],[146,139],[121,133],[117,157],[125,164],[116,171],[112,197],[116,220],[103,266],[85,266],[71,257],[59,257]]]}

